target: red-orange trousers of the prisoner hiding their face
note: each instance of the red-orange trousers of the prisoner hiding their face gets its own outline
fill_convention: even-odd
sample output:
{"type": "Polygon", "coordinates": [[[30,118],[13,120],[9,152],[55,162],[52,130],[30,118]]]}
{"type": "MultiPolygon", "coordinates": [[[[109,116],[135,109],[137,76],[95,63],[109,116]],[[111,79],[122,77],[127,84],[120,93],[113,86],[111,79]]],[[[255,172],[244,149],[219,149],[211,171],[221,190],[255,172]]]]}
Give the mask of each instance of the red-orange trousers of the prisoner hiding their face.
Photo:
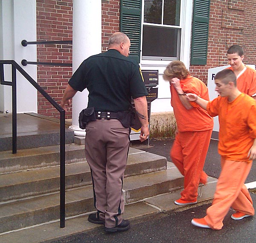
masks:
{"type": "Polygon", "coordinates": [[[195,200],[198,196],[199,182],[206,183],[207,174],[203,172],[212,130],[200,132],[178,132],[170,156],[172,162],[184,176],[182,200],[195,200]]]}

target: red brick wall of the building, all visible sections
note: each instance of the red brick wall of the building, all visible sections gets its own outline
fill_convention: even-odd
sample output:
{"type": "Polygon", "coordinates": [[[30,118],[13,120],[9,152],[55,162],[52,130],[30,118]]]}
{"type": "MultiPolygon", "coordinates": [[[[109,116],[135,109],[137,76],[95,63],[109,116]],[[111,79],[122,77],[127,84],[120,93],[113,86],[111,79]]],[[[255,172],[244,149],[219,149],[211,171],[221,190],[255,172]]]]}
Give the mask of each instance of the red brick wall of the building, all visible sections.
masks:
{"type": "MultiPolygon", "coordinates": [[[[37,0],[37,40],[72,40],[73,0],[37,0]]],[[[251,0],[212,0],[210,6],[207,65],[190,66],[192,75],[207,83],[209,68],[227,65],[229,46],[244,48],[244,63],[256,64],[256,3],[251,0]]],[[[102,0],[102,51],[108,39],[119,31],[120,0],[102,0]]],[[[38,61],[72,63],[72,45],[38,45],[38,61]]],[[[57,101],[61,101],[70,67],[38,66],[38,83],[57,101]]],[[[38,113],[58,117],[55,110],[38,94],[38,113]]],[[[72,118],[72,108],[66,118],[72,118]]]]}

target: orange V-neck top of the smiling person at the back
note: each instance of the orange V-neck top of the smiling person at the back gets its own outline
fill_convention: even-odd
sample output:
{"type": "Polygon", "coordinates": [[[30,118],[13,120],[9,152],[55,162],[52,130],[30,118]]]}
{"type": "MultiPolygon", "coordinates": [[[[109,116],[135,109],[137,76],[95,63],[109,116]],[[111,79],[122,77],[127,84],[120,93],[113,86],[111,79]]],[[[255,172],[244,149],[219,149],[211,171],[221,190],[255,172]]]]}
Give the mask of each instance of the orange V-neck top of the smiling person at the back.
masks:
{"type": "MultiPolygon", "coordinates": [[[[245,65],[246,66],[246,65],[245,65]]],[[[232,67],[229,67],[228,69],[231,69],[234,71],[232,67]]],[[[237,89],[239,91],[248,94],[250,96],[256,95],[256,70],[246,66],[246,69],[244,72],[239,74],[236,80],[237,89]]]]}

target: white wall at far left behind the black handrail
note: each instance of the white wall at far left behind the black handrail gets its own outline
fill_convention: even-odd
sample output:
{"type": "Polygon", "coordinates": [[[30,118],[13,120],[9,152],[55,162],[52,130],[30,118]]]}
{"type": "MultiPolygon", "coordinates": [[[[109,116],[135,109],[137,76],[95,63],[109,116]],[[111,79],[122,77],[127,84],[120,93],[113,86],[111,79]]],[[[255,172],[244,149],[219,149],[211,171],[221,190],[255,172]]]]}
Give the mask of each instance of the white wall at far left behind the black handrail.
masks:
{"type": "MultiPolygon", "coordinates": [[[[21,41],[36,40],[36,1],[35,0],[0,0],[1,60],[15,60],[35,81],[37,80],[36,65],[22,66],[21,60],[36,61],[36,45],[23,47],[21,41]]],[[[9,65],[5,65],[5,80],[11,80],[9,65]]],[[[11,112],[11,87],[0,87],[0,111],[11,112]],[[3,96],[3,97],[2,97],[3,96]]],[[[37,113],[37,91],[17,71],[17,112],[37,113]]]]}

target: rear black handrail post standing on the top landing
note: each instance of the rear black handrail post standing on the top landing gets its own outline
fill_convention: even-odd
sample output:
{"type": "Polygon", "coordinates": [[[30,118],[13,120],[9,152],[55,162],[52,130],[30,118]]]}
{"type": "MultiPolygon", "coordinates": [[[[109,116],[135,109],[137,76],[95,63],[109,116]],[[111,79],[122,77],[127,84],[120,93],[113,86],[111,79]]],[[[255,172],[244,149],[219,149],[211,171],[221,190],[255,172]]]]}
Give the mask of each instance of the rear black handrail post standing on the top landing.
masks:
{"type": "Polygon", "coordinates": [[[12,153],[17,154],[17,82],[16,69],[12,65],[12,153]]]}

